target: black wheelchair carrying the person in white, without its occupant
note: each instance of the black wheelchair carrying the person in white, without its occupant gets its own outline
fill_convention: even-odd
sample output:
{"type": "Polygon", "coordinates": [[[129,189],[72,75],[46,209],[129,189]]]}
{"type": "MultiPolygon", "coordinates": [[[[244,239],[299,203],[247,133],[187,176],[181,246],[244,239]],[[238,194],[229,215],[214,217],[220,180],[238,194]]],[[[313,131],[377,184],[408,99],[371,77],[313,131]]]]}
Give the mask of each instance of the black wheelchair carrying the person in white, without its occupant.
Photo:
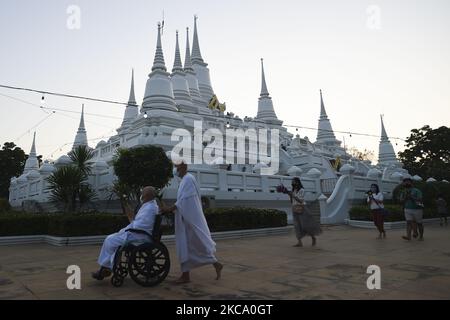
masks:
{"type": "Polygon", "coordinates": [[[148,240],[130,241],[117,249],[111,277],[114,287],[122,286],[127,275],[143,287],[156,286],[167,277],[170,256],[167,247],[161,242],[161,221],[162,215],[156,215],[152,235],[143,230],[126,230],[146,234],[148,240]]]}

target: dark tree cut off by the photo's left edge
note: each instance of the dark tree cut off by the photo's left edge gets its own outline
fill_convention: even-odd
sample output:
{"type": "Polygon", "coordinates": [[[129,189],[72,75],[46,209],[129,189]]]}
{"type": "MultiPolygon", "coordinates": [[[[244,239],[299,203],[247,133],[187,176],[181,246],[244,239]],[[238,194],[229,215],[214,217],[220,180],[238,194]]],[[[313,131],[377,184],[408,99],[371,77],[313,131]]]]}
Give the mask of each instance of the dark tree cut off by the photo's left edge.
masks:
{"type": "Polygon", "coordinates": [[[9,198],[10,179],[23,172],[27,156],[13,142],[5,142],[0,150],[0,198],[9,198]]]}

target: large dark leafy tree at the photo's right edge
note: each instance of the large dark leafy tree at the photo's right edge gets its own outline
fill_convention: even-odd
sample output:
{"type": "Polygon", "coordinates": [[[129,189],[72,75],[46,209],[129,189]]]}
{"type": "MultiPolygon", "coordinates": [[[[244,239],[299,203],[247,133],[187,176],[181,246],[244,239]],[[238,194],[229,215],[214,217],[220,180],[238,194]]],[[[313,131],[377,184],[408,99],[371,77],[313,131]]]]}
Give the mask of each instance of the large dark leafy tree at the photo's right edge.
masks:
{"type": "Polygon", "coordinates": [[[411,130],[400,161],[412,175],[450,180],[450,128],[424,126],[411,130]]]}

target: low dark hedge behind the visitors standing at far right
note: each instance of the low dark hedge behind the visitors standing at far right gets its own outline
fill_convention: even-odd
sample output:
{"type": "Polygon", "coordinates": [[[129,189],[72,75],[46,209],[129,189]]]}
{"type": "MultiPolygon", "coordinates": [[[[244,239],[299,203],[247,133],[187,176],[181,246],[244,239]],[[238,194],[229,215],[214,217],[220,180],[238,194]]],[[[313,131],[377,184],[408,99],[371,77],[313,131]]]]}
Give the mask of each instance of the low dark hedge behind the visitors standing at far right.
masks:
{"type": "MultiPolygon", "coordinates": [[[[404,221],[405,214],[403,212],[403,207],[399,205],[385,205],[386,210],[389,214],[385,215],[385,222],[396,222],[396,221],[404,221]]],[[[351,220],[360,220],[360,221],[372,221],[373,215],[367,205],[365,206],[354,206],[349,211],[351,220]]],[[[425,208],[423,212],[424,219],[437,218],[438,215],[435,210],[430,208],[425,208]]]]}

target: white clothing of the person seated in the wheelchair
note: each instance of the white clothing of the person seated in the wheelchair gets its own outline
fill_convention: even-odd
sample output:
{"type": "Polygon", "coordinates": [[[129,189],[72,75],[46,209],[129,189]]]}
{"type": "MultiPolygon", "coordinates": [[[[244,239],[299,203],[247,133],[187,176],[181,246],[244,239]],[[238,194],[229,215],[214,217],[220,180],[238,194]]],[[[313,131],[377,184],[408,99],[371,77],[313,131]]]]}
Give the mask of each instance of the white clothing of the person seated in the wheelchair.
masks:
{"type": "Polygon", "coordinates": [[[159,208],[155,200],[144,203],[128,226],[106,237],[98,257],[98,264],[111,269],[114,263],[114,256],[120,246],[129,241],[148,240],[148,236],[145,234],[126,232],[125,230],[139,229],[152,234],[155,217],[158,213],[159,208]]]}

